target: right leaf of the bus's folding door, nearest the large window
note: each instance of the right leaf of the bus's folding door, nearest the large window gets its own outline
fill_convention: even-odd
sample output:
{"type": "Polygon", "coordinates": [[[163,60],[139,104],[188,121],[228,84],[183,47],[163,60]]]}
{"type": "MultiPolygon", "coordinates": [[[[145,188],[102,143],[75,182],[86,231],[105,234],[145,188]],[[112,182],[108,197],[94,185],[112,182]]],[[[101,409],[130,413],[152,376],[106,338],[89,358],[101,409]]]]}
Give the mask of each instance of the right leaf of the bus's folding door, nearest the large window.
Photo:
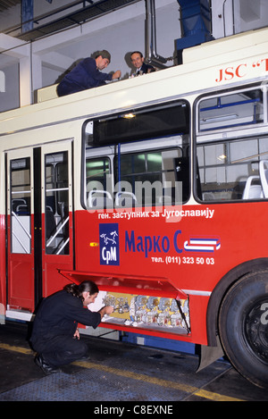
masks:
{"type": "Polygon", "coordinates": [[[71,141],[42,147],[43,296],[63,289],[59,269],[73,269],[71,141]]]}

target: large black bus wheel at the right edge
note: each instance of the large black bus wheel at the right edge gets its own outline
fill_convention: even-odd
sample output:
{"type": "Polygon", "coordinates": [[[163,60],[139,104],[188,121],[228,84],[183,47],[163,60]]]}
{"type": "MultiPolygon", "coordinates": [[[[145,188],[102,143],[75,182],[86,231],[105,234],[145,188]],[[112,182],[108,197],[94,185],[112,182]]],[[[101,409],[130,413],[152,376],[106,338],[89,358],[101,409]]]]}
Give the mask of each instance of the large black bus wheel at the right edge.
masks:
{"type": "Polygon", "coordinates": [[[228,291],[219,331],[230,363],[248,381],[268,388],[268,271],[248,273],[228,291]]]}

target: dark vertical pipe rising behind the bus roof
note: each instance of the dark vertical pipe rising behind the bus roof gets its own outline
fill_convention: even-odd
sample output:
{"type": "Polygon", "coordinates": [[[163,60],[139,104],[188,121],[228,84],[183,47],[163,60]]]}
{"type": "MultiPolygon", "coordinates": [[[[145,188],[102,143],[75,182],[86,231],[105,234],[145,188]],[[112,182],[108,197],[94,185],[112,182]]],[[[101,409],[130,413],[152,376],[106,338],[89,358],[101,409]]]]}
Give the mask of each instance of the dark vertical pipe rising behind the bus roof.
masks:
{"type": "Polygon", "coordinates": [[[164,69],[168,58],[163,58],[156,52],[156,24],[155,24],[155,0],[146,0],[147,9],[147,56],[146,62],[152,64],[155,68],[164,69]]]}

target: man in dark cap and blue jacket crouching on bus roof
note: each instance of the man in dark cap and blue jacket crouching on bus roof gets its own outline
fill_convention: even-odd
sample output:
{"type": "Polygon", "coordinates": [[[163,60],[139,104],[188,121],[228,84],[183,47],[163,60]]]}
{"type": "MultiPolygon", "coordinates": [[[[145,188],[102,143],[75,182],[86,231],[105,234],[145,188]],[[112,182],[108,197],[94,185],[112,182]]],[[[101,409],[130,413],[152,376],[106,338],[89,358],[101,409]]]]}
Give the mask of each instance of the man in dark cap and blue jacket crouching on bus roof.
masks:
{"type": "Polygon", "coordinates": [[[101,72],[109,63],[111,63],[111,54],[105,49],[97,53],[96,58],[88,57],[80,61],[57,86],[58,96],[66,96],[88,88],[104,86],[106,80],[120,79],[120,70],[113,74],[101,72]]]}

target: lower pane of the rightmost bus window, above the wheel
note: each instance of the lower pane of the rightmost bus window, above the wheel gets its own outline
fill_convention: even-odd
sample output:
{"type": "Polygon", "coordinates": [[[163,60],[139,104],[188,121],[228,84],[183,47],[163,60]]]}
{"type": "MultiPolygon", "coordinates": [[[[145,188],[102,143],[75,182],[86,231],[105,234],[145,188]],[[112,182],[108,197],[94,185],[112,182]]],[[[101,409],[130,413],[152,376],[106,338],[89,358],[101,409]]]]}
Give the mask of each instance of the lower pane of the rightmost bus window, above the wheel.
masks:
{"type": "MultiPolygon", "coordinates": [[[[203,201],[264,199],[260,168],[268,138],[242,138],[197,146],[203,201]]],[[[264,178],[263,178],[264,179],[264,178]]]]}

